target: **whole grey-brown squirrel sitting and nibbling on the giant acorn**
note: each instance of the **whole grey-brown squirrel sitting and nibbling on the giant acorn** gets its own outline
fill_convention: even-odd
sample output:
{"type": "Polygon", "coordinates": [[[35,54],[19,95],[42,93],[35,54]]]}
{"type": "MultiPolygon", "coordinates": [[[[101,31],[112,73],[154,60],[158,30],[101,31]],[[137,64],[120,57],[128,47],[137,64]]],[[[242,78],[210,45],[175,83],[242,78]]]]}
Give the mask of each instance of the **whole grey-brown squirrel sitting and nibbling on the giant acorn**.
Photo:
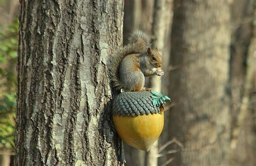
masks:
{"type": "Polygon", "coordinates": [[[110,55],[108,61],[112,84],[124,91],[147,91],[143,89],[145,77],[164,75],[162,57],[158,49],[151,49],[150,38],[142,31],[134,31],[129,44],[110,55]]]}

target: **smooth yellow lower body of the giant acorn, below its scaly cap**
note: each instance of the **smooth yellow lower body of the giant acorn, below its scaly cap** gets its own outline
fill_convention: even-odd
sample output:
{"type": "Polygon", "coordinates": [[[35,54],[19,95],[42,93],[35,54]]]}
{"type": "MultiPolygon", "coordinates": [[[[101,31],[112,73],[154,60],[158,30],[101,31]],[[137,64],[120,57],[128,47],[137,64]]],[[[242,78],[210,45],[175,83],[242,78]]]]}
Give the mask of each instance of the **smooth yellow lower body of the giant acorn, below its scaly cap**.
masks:
{"type": "Polygon", "coordinates": [[[164,127],[164,112],[139,116],[114,115],[118,135],[130,146],[149,151],[164,127]]]}

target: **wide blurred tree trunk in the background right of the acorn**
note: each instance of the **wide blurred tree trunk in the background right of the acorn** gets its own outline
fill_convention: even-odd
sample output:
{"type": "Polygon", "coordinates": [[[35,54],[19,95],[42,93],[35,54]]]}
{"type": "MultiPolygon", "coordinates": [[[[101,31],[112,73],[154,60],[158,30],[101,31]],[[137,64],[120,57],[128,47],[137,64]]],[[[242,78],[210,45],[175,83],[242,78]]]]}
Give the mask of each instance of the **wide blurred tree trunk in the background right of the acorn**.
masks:
{"type": "MultiPolygon", "coordinates": [[[[169,95],[173,165],[228,165],[229,1],[174,1],[169,95]]],[[[166,125],[166,124],[165,124],[166,125]]]]}

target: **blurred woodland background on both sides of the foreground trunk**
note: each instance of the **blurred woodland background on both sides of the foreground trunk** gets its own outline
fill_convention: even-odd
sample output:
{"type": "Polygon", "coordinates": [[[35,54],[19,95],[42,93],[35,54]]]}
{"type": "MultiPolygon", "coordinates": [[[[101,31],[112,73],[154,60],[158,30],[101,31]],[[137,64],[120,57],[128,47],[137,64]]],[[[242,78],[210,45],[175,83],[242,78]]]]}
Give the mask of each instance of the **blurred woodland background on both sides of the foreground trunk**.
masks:
{"type": "MultiPolygon", "coordinates": [[[[146,87],[172,99],[159,140],[125,145],[126,165],[256,165],[256,1],[124,2],[124,44],[150,34],[165,75],[146,87]]],[[[0,0],[0,165],[14,155],[18,14],[0,0]]]]}

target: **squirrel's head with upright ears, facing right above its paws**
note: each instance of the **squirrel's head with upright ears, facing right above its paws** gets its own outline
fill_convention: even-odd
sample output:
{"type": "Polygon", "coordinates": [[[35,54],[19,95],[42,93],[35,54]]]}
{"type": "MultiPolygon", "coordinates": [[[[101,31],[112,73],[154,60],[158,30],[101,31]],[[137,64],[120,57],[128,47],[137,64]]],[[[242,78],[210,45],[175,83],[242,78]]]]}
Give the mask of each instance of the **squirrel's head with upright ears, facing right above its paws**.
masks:
{"type": "Polygon", "coordinates": [[[150,64],[156,68],[162,66],[162,56],[158,52],[158,49],[152,50],[150,47],[147,49],[147,58],[150,61],[150,64]]]}

